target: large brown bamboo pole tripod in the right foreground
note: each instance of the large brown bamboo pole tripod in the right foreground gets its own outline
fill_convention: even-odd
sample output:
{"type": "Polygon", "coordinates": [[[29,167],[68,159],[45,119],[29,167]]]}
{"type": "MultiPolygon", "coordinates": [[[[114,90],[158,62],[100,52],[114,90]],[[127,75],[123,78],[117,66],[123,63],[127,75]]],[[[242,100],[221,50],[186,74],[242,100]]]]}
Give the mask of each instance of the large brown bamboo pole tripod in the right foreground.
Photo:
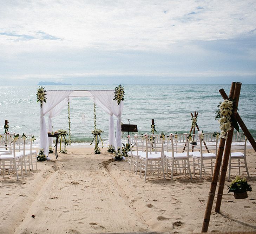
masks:
{"type": "MultiPolygon", "coordinates": [[[[243,130],[244,135],[247,137],[247,139],[251,143],[251,146],[254,148],[254,150],[256,152],[256,142],[253,139],[252,135],[250,134],[248,128],[245,126],[240,115],[237,113],[237,106],[238,106],[241,86],[242,86],[242,83],[240,83],[240,82],[232,82],[229,97],[225,93],[224,89],[220,89],[219,93],[222,95],[224,100],[229,99],[229,98],[232,100],[235,100],[235,105],[233,106],[232,116],[236,119],[238,125],[243,130]]],[[[230,148],[231,148],[231,143],[232,143],[232,138],[233,138],[233,132],[234,132],[234,127],[232,127],[230,131],[228,131],[227,142],[226,142],[225,138],[221,138],[221,140],[219,142],[219,149],[218,149],[216,164],[215,164],[215,168],[214,168],[214,175],[212,177],[211,188],[210,188],[210,192],[209,192],[209,196],[208,196],[208,202],[207,202],[206,209],[205,209],[202,232],[208,231],[208,226],[209,226],[210,217],[211,217],[212,204],[214,201],[219,171],[221,168],[222,155],[223,155],[224,146],[225,146],[225,142],[226,142],[224,158],[223,158],[223,163],[222,163],[221,177],[219,179],[219,188],[218,188],[215,212],[219,213],[219,210],[221,207],[221,201],[222,201],[223,189],[224,189],[225,178],[226,178],[226,173],[227,173],[227,168],[228,168],[228,161],[229,161],[230,148]]]]}

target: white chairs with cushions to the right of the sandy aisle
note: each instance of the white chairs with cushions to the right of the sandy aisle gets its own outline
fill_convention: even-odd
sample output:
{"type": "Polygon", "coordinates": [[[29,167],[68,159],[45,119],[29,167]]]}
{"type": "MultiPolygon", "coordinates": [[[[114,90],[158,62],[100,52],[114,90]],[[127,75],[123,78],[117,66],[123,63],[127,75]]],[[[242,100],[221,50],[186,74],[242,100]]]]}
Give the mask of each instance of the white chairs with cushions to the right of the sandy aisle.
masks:
{"type": "MultiPolygon", "coordinates": [[[[188,173],[192,180],[191,166],[193,175],[199,172],[200,179],[202,173],[207,169],[211,170],[213,175],[215,160],[218,150],[218,138],[212,133],[199,134],[155,134],[155,135],[128,135],[131,151],[128,152],[128,168],[137,174],[140,171],[145,172],[145,178],[148,171],[157,171],[158,176],[162,172],[165,179],[165,173],[173,179],[173,172],[188,173]],[[191,165],[192,163],[192,165],[191,165]]],[[[238,168],[239,175],[241,168],[244,167],[249,177],[246,161],[246,143],[247,139],[243,133],[234,134],[231,145],[231,154],[229,157],[229,178],[231,169],[238,168]],[[237,152],[241,151],[242,152],[237,152]],[[236,152],[233,152],[233,151],[236,152]],[[241,161],[242,160],[242,161],[241,161]]]]}

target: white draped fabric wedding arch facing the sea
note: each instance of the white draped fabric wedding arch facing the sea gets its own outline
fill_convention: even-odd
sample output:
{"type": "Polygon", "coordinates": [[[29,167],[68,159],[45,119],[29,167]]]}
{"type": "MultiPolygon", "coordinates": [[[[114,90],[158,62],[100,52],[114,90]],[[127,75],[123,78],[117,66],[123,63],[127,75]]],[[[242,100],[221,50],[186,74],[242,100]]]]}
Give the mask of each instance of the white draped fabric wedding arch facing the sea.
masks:
{"type": "Polygon", "coordinates": [[[52,131],[52,118],[57,116],[61,110],[76,97],[88,97],[97,106],[110,115],[109,119],[109,145],[122,147],[121,141],[121,116],[124,102],[113,100],[114,90],[48,90],[44,91],[46,101],[41,102],[40,112],[40,148],[44,149],[46,155],[49,152],[48,131],[52,131]],[[48,130],[45,116],[48,114],[48,130]],[[116,139],[114,133],[114,118],[117,116],[116,139]]]}

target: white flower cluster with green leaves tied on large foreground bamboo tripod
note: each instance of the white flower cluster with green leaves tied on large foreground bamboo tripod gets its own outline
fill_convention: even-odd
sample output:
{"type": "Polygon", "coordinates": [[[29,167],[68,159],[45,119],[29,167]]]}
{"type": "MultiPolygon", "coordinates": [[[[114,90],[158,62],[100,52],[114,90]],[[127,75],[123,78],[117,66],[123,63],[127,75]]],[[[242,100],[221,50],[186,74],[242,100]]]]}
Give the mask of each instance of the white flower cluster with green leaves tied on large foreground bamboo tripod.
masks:
{"type": "Polygon", "coordinates": [[[231,130],[231,125],[239,132],[239,127],[237,121],[232,116],[234,101],[225,99],[223,102],[220,102],[217,106],[218,110],[216,111],[217,116],[215,119],[219,119],[218,122],[220,124],[220,136],[221,138],[227,137],[227,132],[231,130]]]}

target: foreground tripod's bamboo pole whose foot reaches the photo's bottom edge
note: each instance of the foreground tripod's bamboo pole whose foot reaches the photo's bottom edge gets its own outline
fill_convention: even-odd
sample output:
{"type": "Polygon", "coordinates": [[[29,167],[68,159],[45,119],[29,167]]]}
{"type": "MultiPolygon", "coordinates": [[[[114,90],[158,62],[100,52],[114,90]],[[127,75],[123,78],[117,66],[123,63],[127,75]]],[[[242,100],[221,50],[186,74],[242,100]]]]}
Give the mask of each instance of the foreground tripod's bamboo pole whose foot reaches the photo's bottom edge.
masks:
{"type": "MultiPolygon", "coordinates": [[[[230,88],[230,94],[229,94],[230,97],[232,96],[233,92],[234,92],[234,85],[232,83],[231,88],[230,88]]],[[[222,155],[223,155],[223,151],[224,151],[225,141],[226,141],[225,138],[221,138],[221,140],[219,142],[219,149],[218,149],[218,153],[217,153],[216,164],[214,167],[214,175],[212,176],[211,187],[210,187],[210,192],[209,192],[209,196],[208,196],[208,202],[207,202],[205,214],[204,214],[202,232],[208,231],[208,226],[209,226],[209,222],[210,222],[210,218],[211,218],[211,209],[212,209],[212,204],[214,201],[215,191],[216,191],[216,187],[217,187],[219,169],[221,168],[221,161],[222,161],[222,155]]]]}

